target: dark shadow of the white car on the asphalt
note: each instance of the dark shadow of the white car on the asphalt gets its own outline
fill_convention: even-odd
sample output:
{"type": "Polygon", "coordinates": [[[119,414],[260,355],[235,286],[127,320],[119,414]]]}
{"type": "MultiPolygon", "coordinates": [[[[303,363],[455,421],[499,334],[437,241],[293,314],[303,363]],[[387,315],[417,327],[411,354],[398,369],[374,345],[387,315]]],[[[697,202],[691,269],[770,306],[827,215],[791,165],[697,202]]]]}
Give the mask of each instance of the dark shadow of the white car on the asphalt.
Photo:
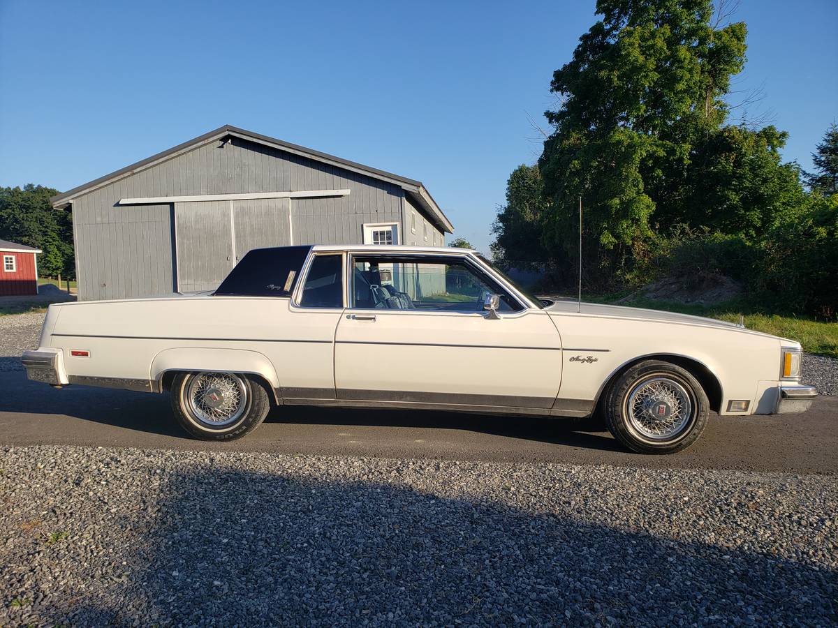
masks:
{"type": "MultiPolygon", "coordinates": [[[[72,385],[52,389],[30,382],[22,371],[0,373],[0,412],[55,414],[147,434],[187,438],[175,422],[167,394],[136,393],[72,385]]],[[[467,414],[432,410],[322,408],[279,406],[266,424],[359,425],[473,431],[597,450],[619,451],[619,445],[590,421],[517,414],[467,414]]],[[[259,432],[254,433],[254,436],[259,432]]]]}

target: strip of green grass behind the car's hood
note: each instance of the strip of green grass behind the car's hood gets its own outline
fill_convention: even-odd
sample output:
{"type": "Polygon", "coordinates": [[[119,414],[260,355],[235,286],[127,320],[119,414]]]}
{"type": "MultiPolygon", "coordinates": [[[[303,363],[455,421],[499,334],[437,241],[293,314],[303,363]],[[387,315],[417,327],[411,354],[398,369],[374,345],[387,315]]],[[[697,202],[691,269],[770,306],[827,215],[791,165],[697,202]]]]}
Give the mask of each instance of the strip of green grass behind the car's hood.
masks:
{"type": "MultiPolygon", "coordinates": [[[[603,296],[586,300],[613,303],[615,297],[603,296]]],[[[727,322],[739,322],[739,317],[743,317],[745,327],[748,329],[796,340],[807,353],[819,353],[830,358],[838,358],[838,319],[829,322],[818,321],[810,317],[798,317],[794,314],[774,314],[760,311],[759,308],[750,306],[744,301],[730,301],[717,306],[699,306],[670,301],[637,299],[620,305],[677,311],[681,314],[716,318],[727,322]]]]}

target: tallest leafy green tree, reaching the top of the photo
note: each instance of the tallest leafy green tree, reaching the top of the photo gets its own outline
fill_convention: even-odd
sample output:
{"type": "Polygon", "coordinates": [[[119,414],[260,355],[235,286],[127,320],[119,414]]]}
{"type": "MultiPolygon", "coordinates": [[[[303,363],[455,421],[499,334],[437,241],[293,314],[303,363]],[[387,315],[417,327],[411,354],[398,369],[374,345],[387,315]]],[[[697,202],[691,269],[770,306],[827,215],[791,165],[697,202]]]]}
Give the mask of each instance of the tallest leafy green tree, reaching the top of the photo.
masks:
{"type": "Polygon", "coordinates": [[[648,257],[658,203],[680,195],[696,139],[722,125],[746,28],[712,23],[710,0],[599,0],[597,13],[553,75],[562,105],[546,112],[539,166],[551,256],[575,256],[581,196],[586,266],[603,284],[648,257]]]}

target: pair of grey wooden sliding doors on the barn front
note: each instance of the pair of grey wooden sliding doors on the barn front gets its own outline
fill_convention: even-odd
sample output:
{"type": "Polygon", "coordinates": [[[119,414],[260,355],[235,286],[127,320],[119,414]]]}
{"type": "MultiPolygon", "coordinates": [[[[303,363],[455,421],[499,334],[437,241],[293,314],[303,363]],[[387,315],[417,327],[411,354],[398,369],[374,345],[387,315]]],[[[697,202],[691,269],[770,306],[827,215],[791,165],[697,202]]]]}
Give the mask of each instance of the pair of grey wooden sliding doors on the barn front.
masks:
{"type": "Polygon", "coordinates": [[[215,290],[251,249],[291,242],[287,198],[174,203],[178,291],[215,290]]]}

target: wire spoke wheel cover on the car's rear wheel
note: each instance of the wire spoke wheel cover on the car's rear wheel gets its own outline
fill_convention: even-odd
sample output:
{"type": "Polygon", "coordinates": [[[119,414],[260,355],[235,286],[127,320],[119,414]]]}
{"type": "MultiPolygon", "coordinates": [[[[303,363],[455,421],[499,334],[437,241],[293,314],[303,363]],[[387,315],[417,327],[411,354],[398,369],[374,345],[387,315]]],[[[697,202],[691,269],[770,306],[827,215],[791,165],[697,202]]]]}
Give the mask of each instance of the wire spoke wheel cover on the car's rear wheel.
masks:
{"type": "Polygon", "coordinates": [[[189,413],[209,429],[235,424],[247,408],[247,386],[235,373],[196,373],[185,392],[189,413]]]}

